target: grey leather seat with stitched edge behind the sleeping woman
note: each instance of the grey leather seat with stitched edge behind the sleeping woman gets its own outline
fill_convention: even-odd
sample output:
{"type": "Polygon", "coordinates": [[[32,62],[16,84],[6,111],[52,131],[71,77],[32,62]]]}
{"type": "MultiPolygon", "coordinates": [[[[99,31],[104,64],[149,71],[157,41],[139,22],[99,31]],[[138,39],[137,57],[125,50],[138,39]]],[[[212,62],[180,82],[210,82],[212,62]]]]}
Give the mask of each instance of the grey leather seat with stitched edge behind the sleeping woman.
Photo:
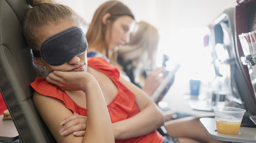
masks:
{"type": "Polygon", "coordinates": [[[40,118],[30,87],[40,74],[33,64],[22,25],[26,0],[0,0],[0,92],[19,134],[19,142],[54,143],[53,135],[40,118]]]}

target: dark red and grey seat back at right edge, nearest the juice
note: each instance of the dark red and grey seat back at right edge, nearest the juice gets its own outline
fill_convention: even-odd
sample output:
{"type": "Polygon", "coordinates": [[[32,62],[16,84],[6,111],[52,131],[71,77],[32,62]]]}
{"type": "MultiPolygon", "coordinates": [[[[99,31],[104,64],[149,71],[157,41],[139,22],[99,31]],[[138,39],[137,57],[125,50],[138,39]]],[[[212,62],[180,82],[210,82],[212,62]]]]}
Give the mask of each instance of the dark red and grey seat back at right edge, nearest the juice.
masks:
{"type": "MultiPolygon", "coordinates": [[[[256,70],[249,70],[250,66],[244,65],[241,58],[247,56],[244,55],[244,51],[239,39],[239,35],[242,33],[248,33],[256,30],[256,1],[254,0],[237,0],[235,7],[235,41],[236,49],[235,55],[237,60],[237,66],[241,77],[237,76],[237,86],[239,87],[240,96],[246,111],[251,116],[256,116],[256,99],[255,99],[255,82],[251,72],[256,70]]],[[[255,67],[256,68],[256,67],[255,67]]]]}

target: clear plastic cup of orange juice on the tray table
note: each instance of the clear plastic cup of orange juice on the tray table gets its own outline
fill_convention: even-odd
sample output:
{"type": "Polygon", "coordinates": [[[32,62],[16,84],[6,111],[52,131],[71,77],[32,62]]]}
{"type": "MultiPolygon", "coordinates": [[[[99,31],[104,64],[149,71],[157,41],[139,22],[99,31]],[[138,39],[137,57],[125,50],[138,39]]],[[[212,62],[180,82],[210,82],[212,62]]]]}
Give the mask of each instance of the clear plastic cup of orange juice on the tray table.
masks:
{"type": "Polygon", "coordinates": [[[213,107],[218,133],[237,135],[245,114],[244,109],[234,107],[213,107]]]}

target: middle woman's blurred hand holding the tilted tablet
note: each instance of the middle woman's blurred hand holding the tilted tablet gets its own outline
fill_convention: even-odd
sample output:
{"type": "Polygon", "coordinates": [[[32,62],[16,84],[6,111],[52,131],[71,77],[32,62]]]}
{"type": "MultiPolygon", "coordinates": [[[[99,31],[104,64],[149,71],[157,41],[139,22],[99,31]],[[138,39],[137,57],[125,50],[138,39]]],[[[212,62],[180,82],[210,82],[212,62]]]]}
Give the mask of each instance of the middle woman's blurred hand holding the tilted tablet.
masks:
{"type": "Polygon", "coordinates": [[[165,67],[154,69],[147,76],[145,85],[142,88],[142,90],[145,91],[149,96],[151,96],[155,92],[157,87],[160,85],[160,83],[163,81],[165,75],[165,67]]]}

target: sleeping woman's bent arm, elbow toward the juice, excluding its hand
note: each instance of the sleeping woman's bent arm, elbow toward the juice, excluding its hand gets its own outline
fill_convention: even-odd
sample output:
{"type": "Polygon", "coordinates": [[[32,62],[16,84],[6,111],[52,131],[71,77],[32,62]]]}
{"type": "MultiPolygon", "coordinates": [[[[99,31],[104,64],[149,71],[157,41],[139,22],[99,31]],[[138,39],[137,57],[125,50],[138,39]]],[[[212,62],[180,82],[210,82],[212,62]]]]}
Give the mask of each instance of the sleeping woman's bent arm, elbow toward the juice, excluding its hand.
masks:
{"type": "Polygon", "coordinates": [[[163,114],[149,96],[131,82],[126,81],[122,77],[119,79],[135,93],[135,103],[139,107],[140,112],[132,118],[112,123],[115,139],[127,139],[146,135],[162,126],[164,124],[163,114]]]}

